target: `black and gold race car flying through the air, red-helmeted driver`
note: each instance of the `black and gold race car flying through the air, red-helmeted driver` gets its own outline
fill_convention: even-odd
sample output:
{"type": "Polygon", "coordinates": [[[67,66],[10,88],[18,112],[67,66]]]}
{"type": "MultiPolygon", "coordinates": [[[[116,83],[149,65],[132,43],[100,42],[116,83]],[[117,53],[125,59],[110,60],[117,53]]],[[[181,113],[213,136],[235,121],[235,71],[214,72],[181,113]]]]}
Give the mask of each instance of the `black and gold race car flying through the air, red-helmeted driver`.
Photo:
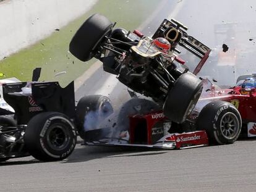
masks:
{"type": "Polygon", "coordinates": [[[182,123],[194,109],[202,93],[202,81],[179,65],[184,61],[174,52],[177,44],[206,61],[210,49],[192,36],[176,20],[164,20],[153,37],[122,28],[114,29],[103,15],[89,17],[70,42],[70,52],[81,61],[96,57],[106,72],[121,83],[152,98],[173,122],[182,123]],[[186,93],[181,94],[186,90],[186,93]]]}

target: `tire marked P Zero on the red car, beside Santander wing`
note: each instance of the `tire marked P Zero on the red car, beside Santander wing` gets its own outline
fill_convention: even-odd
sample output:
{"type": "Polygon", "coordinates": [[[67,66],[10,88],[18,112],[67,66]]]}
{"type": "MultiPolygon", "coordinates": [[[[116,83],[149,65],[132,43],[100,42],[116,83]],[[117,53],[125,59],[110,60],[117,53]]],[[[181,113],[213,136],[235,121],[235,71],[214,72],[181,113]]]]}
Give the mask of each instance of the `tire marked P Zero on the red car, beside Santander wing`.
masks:
{"type": "Polygon", "coordinates": [[[225,101],[213,101],[203,107],[197,123],[199,130],[207,132],[210,144],[234,143],[242,127],[239,111],[225,101]]]}

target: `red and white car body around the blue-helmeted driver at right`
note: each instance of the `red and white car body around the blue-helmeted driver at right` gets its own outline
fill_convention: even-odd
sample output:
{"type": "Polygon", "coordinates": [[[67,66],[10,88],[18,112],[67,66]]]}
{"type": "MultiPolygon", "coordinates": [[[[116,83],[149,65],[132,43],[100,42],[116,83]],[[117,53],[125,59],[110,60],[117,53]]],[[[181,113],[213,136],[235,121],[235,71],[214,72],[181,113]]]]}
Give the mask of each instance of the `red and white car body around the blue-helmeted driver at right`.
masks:
{"type": "MultiPolygon", "coordinates": [[[[237,85],[229,89],[221,89],[208,79],[203,80],[204,88],[194,115],[208,102],[215,100],[231,102],[239,111],[242,118],[241,137],[256,136],[256,79],[255,74],[241,75],[237,78],[237,85]]],[[[193,114],[193,113],[192,113],[193,114]]],[[[192,117],[190,115],[190,117],[192,117]]],[[[229,131],[225,130],[228,135],[229,131]]]]}

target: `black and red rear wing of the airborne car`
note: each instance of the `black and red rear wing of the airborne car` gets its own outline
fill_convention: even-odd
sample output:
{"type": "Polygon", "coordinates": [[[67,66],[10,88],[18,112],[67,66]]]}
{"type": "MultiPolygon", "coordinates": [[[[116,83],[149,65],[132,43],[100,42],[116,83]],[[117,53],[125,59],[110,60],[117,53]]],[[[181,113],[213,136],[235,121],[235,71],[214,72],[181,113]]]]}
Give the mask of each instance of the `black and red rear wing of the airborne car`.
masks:
{"type": "Polygon", "coordinates": [[[203,64],[205,64],[205,61],[207,61],[211,49],[193,36],[187,35],[187,29],[186,26],[174,19],[171,19],[171,21],[164,19],[152,38],[166,38],[171,43],[172,51],[180,53],[181,51],[176,49],[179,44],[179,46],[182,46],[195,56],[199,57],[201,61],[193,72],[197,75],[200,69],[202,69],[203,64]]]}

